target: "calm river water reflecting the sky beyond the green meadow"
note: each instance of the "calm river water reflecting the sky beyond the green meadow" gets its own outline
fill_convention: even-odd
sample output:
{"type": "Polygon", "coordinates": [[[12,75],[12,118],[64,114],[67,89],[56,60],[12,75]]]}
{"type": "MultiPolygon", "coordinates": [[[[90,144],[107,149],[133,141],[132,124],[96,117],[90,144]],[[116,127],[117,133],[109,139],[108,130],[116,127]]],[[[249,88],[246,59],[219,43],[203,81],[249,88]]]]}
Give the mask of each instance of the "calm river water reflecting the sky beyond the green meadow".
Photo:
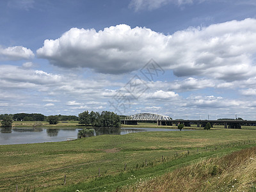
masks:
{"type": "MultiPolygon", "coordinates": [[[[0,145],[44,143],[76,140],[81,129],[46,129],[46,128],[0,128],[0,145]]],[[[143,131],[179,131],[179,129],[161,128],[99,128],[94,136],[102,134],[129,134],[143,131]]],[[[183,131],[183,130],[182,130],[183,131]]]]}

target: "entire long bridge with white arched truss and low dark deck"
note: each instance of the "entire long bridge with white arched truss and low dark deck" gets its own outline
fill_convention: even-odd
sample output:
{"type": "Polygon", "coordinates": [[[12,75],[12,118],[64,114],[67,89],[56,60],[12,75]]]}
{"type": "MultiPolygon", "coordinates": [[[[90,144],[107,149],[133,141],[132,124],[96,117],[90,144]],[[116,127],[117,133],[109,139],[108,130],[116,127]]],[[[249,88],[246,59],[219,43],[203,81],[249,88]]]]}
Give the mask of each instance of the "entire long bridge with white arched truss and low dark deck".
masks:
{"type": "Polygon", "coordinates": [[[241,125],[256,125],[255,120],[173,120],[169,116],[152,114],[152,113],[138,113],[136,115],[127,116],[124,120],[121,120],[122,124],[137,125],[138,122],[156,122],[157,125],[179,125],[184,124],[186,127],[190,127],[191,124],[196,124],[197,127],[205,127],[205,124],[209,122],[211,125],[224,125],[229,129],[241,129],[241,125]]]}

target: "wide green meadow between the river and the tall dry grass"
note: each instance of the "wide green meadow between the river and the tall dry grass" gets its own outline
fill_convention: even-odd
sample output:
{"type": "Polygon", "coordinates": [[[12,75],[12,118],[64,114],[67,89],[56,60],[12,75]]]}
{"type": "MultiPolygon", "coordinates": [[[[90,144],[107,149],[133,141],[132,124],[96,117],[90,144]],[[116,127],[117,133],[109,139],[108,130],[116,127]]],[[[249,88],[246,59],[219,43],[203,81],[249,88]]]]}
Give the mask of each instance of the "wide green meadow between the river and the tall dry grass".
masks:
{"type": "Polygon", "coordinates": [[[253,130],[221,129],[140,132],[56,143],[1,145],[0,191],[15,191],[16,184],[19,191],[113,191],[134,184],[137,179],[157,177],[205,157],[253,146],[255,140],[253,130]],[[63,186],[64,175],[67,179],[63,186]]]}

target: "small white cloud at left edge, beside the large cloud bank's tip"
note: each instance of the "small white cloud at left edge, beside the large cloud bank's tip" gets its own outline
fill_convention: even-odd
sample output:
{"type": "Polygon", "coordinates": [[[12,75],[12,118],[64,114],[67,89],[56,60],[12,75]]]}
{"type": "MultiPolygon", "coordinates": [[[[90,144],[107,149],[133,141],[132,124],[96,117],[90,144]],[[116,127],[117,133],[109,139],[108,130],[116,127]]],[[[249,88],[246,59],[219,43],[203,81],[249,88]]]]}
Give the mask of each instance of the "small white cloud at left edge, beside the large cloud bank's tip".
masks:
{"type": "Polygon", "coordinates": [[[3,48],[0,45],[0,60],[29,60],[35,55],[33,52],[22,46],[3,48]]]}

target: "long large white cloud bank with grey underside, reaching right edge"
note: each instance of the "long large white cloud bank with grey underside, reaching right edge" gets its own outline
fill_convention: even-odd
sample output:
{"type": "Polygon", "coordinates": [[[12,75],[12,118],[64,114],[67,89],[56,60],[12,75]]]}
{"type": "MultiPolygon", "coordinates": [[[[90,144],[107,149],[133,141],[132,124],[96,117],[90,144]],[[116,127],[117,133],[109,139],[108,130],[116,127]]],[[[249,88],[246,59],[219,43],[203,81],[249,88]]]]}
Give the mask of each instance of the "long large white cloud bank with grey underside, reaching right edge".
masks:
{"type": "Polygon", "coordinates": [[[59,67],[92,68],[106,74],[139,70],[154,58],[179,77],[231,82],[256,75],[254,42],[255,19],[188,28],[173,35],[122,24],[99,32],[72,28],[56,40],[45,40],[37,54],[59,67]]]}

